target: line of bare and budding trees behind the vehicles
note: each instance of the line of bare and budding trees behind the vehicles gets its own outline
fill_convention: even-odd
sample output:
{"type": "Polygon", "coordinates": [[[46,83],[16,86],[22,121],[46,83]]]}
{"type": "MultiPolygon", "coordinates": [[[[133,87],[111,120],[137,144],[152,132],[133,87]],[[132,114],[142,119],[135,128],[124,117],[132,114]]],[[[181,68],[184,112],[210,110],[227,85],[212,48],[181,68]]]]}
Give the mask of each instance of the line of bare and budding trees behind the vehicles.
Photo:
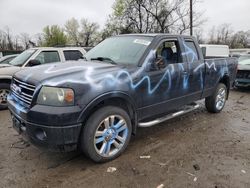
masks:
{"type": "MultiPolygon", "coordinates": [[[[197,11],[200,2],[193,0],[194,35],[200,43],[227,44],[231,48],[248,46],[250,32],[233,32],[230,25],[214,27],[204,39],[202,25],[206,22],[197,11]]],[[[107,37],[127,33],[188,34],[190,28],[189,0],[116,0],[104,28],[85,18],[71,18],[63,27],[51,25],[35,36],[20,33],[13,36],[6,27],[0,30],[0,49],[22,50],[33,46],[95,46],[107,37]]]]}

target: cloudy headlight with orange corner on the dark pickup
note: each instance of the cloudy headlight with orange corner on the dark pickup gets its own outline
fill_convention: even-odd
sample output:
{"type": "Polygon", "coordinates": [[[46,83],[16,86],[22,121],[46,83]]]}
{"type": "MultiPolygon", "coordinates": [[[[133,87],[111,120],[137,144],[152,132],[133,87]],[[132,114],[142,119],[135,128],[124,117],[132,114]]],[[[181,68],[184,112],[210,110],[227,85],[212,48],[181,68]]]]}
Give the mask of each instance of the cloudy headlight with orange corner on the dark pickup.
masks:
{"type": "Polygon", "coordinates": [[[74,91],[69,88],[42,87],[37,104],[48,106],[73,106],[74,91]]]}

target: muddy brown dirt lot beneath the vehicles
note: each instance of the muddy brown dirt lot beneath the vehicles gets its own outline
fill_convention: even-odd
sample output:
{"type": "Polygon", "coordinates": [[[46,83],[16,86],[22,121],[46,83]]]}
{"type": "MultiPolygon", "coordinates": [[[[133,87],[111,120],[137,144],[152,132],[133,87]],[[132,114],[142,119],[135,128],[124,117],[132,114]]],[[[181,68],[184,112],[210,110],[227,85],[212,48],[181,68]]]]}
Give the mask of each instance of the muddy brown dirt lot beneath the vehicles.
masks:
{"type": "Polygon", "coordinates": [[[220,114],[203,106],[139,129],[126,152],[106,164],[37,149],[12,129],[8,111],[0,120],[0,187],[250,187],[250,91],[232,91],[220,114]]]}

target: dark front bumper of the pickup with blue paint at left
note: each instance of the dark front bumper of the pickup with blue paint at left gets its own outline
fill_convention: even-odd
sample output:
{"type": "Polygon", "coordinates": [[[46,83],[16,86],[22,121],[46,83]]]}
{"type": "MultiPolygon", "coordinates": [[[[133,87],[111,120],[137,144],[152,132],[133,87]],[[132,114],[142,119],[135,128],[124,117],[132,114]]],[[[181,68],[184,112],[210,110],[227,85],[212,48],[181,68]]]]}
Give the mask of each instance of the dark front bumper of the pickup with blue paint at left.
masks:
{"type": "Polygon", "coordinates": [[[82,124],[76,122],[77,118],[72,120],[72,117],[77,116],[80,109],[61,107],[56,110],[49,106],[45,107],[47,110],[44,106],[27,109],[11,96],[8,98],[8,106],[13,127],[34,145],[53,151],[77,149],[82,124]]]}

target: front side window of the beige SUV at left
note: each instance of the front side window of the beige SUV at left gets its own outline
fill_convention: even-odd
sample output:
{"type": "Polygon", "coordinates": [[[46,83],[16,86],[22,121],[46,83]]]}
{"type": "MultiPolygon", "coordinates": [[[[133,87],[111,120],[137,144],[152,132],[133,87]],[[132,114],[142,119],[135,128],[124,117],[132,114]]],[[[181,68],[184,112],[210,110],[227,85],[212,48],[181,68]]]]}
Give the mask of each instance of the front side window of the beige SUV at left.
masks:
{"type": "Polygon", "coordinates": [[[57,51],[43,51],[35,58],[41,64],[60,62],[60,57],[57,51]]]}

